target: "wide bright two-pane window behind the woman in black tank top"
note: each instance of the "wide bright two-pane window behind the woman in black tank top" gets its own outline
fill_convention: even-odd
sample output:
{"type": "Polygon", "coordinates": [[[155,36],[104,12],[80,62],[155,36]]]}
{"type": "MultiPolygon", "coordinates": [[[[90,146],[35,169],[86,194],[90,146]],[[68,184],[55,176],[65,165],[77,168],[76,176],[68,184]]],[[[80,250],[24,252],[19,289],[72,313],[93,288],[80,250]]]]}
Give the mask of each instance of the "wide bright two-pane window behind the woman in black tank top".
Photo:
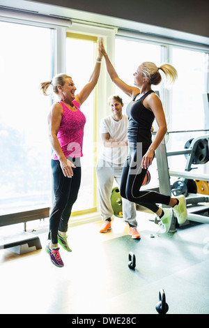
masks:
{"type": "MultiPolygon", "coordinates": [[[[167,150],[182,150],[187,140],[205,134],[200,131],[205,128],[203,108],[203,93],[207,92],[206,70],[208,57],[206,53],[196,48],[189,49],[165,43],[146,43],[146,40],[133,40],[127,38],[116,39],[116,70],[118,75],[133,85],[132,74],[142,61],[153,61],[155,64],[169,62],[178,71],[178,80],[169,91],[163,89],[163,83],[153,86],[160,91],[160,98],[164,105],[167,118],[168,131],[184,131],[183,133],[169,133],[167,150]],[[199,130],[194,132],[194,130],[199,130]],[[192,132],[185,132],[192,131],[192,132]]],[[[164,77],[163,77],[164,79],[164,77]]],[[[116,88],[121,94],[125,105],[130,98],[116,88]]],[[[125,111],[125,106],[124,106],[125,111]]],[[[157,128],[154,121],[154,127],[157,128]]],[[[169,157],[169,166],[173,170],[185,170],[186,158],[182,156],[169,157]]],[[[158,185],[156,162],[150,167],[151,181],[149,186],[158,185]]],[[[198,170],[205,172],[206,165],[199,165],[198,170]]]]}

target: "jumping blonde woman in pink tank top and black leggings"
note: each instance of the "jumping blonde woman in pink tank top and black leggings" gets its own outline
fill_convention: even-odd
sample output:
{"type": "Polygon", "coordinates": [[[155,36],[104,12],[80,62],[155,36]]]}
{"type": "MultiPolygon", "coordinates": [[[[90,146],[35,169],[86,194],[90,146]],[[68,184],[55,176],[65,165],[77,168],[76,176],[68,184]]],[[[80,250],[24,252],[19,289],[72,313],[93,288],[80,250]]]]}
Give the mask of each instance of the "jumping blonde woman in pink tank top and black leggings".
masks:
{"type": "Polygon", "coordinates": [[[81,181],[81,165],[79,158],[83,156],[82,146],[84,124],[86,118],[80,106],[91,94],[98,82],[102,54],[98,58],[90,80],[82,91],[75,94],[76,87],[72,77],[66,74],[56,75],[50,82],[42,82],[40,88],[47,95],[52,87],[60,101],[54,103],[49,113],[49,139],[52,144],[52,174],[54,188],[54,204],[49,218],[49,244],[46,251],[50,260],[57,267],[63,267],[58,243],[71,251],[67,241],[68,221],[72,205],[77,199],[81,181]]]}

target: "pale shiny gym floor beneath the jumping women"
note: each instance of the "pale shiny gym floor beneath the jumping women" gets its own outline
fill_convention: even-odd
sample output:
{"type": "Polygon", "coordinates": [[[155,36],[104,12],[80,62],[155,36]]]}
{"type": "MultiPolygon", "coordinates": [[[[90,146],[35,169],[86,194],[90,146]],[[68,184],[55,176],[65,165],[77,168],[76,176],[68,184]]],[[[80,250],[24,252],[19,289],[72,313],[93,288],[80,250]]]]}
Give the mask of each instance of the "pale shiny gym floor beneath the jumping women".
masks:
{"type": "Polygon", "coordinates": [[[153,219],[137,211],[140,241],[121,218],[106,234],[98,232],[101,222],[70,227],[72,253],[61,248],[63,268],[45,252],[46,231],[38,234],[39,251],[1,250],[0,313],[157,314],[163,288],[168,314],[208,314],[209,225],[165,235],[153,219]],[[136,255],[134,270],[127,267],[129,251],[136,255]]]}

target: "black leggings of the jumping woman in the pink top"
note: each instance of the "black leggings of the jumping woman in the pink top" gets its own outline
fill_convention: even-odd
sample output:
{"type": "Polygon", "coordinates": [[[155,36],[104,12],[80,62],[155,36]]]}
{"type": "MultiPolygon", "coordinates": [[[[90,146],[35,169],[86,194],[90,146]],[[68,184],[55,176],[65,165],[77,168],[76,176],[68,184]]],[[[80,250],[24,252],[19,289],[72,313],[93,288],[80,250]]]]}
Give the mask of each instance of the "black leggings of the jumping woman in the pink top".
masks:
{"type": "Polygon", "coordinates": [[[68,231],[68,221],[72,211],[72,205],[77,200],[77,194],[81,184],[80,158],[68,158],[75,164],[72,178],[65,177],[59,161],[51,161],[54,188],[54,206],[49,217],[48,239],[52,244],[57,244],[57,232],[68,231]]]}

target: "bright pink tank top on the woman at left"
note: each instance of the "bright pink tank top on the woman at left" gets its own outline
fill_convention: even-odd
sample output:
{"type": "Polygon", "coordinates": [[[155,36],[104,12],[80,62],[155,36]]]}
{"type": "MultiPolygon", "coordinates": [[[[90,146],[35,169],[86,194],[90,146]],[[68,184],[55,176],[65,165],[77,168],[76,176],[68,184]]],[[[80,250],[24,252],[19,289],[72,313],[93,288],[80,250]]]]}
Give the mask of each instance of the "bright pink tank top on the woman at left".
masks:
{"type": "MultiPolygon", "coordinates": [[[[63,154],[67,158],[69,155],[74,157],[82,157],[83,148],[83,137],[84,137],[84,125],[86,123],[86,117],[80,110],[80,105],[76,100],[72,103],[77,107],[77,111],[73,112],[62,102],[59,102],[63,107],[63,116],[61,119],[61,124],[59,131],[57,133],[57,138],[63,154]]],[[[58,161],[59,158],[53,151],[52,159],[58,161]]]]}

